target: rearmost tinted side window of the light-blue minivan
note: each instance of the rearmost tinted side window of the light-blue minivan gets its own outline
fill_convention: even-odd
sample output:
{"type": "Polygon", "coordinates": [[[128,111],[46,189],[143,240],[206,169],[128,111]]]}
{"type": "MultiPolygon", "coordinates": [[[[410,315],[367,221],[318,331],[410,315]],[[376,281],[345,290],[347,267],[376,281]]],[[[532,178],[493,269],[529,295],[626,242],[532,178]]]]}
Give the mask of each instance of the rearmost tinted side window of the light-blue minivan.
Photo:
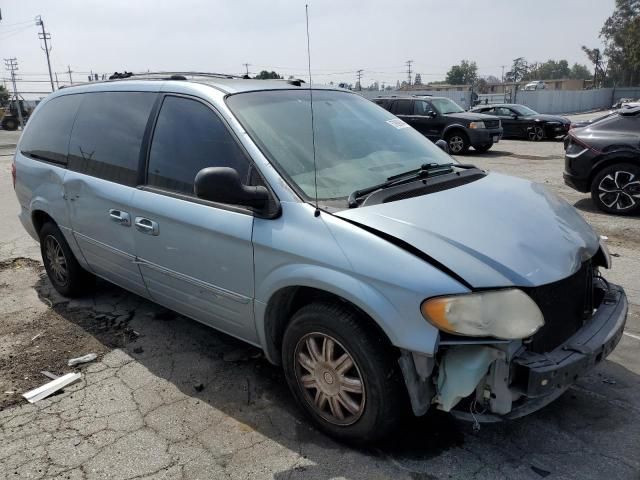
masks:
{"type": "Polygon", "coordinates": [[[81,99],[81,95],[64,95],[42,105],[29,119],[20,151],[31,158],[66,165],[69,135],[81,99]]]}

